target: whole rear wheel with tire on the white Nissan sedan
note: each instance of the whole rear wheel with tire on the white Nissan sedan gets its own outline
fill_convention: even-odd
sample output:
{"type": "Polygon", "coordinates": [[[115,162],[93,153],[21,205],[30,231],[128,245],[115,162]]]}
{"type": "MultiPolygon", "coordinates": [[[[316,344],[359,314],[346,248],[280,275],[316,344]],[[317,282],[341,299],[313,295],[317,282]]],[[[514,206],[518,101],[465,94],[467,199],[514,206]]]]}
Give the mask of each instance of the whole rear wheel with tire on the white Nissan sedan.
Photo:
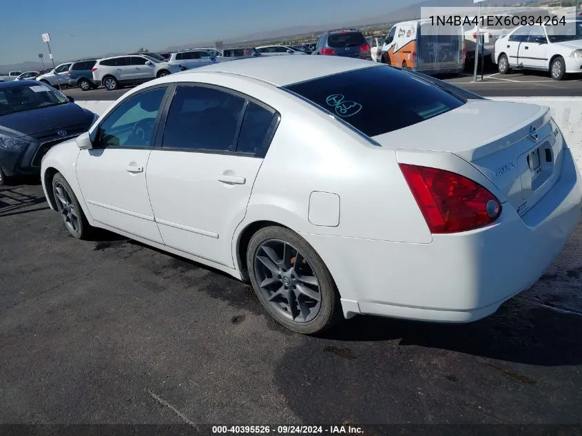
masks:
{"type": "Polygon", "coordinates": [[[311,335],[329,329],[340,319],[340,297],[329,269],[294,231],[276,226],[257,231],[249,241],[247,265],[262,306],[287,329],[311,335]]]}

